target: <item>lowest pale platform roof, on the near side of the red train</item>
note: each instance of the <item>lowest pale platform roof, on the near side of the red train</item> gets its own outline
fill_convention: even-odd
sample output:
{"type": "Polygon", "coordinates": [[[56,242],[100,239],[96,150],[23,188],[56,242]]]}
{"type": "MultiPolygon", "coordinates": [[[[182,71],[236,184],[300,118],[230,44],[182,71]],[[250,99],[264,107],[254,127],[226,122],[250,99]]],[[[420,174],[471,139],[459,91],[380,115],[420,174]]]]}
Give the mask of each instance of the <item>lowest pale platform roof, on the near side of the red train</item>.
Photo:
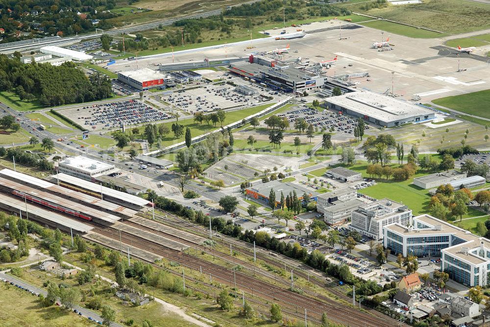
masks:
{"type": "Polygon", "coordinates": [[[58,213],[44,210],[29,203],[26,204],[21,199],[12,198],[4,194],[0,194],[0,208],[16,214],[21,213],[23,218],[32,219],[41,224],[47,224],[68,233],[70,233],[70,229],[72,229],[75,233],[85,234],[93,229],[92,226],[84,224],[81,221],[67,218],[58,213]],[[26,208],[27,214],[25,212],[26,208]]]}

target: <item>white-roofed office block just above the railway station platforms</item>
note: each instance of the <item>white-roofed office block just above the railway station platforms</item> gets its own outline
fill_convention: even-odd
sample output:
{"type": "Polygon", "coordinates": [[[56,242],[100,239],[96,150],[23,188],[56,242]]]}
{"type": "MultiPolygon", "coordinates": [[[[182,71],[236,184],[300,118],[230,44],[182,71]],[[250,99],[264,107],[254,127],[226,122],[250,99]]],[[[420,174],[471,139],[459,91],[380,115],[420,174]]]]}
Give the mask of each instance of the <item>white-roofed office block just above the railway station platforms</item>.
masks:
{"type": "Polygon", "coordinates": [[[57,170],[74,177],[92,181],[99,175],[108,175],[116,167],[110,163],[104,163],[84,156],[69,157],[58,163],[57,170]]]}

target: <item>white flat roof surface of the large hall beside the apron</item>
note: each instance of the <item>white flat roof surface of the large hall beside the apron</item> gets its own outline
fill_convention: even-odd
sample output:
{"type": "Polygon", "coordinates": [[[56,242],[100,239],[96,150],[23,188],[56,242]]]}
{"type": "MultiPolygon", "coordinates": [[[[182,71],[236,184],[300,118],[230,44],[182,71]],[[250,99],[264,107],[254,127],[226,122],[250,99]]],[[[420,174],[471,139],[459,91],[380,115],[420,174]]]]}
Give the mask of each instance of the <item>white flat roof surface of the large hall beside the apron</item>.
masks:
{"type": "Polygon", "coordinates": [[[332,96],[327,102],[383,122],[434,114],[432,110],[369,91],[332,96]]]}

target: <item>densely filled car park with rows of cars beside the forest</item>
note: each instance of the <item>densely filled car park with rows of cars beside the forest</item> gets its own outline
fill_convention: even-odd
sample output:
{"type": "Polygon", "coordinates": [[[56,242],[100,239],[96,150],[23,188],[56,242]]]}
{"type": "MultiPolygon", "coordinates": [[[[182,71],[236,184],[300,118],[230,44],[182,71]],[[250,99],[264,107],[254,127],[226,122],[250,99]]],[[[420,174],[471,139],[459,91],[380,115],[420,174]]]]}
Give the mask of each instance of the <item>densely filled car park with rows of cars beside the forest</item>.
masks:
{"type": "Polygon", "coordinates": [[[93,104],[61,112],[78,124],[93,130],[149,123],[171,118],[168,113],[152,108],[138,100],[93,104]]]}

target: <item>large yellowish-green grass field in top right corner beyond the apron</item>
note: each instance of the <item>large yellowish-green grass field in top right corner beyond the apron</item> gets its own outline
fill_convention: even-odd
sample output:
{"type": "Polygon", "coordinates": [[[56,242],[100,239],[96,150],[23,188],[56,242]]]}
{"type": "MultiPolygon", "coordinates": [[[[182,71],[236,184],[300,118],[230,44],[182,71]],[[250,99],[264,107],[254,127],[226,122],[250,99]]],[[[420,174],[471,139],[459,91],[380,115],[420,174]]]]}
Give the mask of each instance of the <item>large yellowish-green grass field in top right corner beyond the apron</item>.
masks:
{"type": "MultiPolygon", "coordinates": [[[[490,7],[486,3],[478,3],[476,1],[424,0],[422,3],[417,4],[388,4],[384,8],[368,8],[368,5],[369,2],[365,1],[363,3],[349,5],[348,9],[396,22],[427,27],[449,34],[478,31],[490,27],[490,20],[488,19],[490,17],[490,7]]],[[[403,29],[385,30],[396,34],[403,34],[401,32],[404,31],[403,29]]],[[[419,38],[441,36],[441,34],[431,35],[430,33],[415,29],[409,31],[410,35],[403,35],[419,38]]]]}

